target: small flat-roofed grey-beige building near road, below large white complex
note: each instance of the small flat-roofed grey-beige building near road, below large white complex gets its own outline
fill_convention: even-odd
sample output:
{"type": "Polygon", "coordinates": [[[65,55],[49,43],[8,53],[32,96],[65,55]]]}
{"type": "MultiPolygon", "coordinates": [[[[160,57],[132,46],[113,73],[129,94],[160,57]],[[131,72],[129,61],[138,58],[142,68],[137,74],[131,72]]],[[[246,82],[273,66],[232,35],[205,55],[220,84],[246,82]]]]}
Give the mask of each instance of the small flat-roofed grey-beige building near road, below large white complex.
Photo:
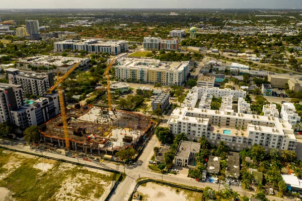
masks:
{"type": "Polygon", "coordinates": [[[174,164],[195,169],[196,155],[199,150],[200,143],[180,141],[174,157],[174,164]]]}

